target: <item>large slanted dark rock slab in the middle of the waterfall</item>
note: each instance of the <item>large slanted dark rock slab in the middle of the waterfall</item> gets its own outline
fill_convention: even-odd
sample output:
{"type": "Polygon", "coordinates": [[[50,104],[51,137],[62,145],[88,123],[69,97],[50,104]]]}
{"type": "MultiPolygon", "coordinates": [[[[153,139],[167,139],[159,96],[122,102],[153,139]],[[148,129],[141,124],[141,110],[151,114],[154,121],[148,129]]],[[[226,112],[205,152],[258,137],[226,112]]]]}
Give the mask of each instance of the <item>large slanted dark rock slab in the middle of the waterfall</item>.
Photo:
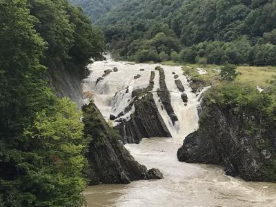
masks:
{"type": "Polygon", "coordinates": [[[172,137],[150,93],[154,87],[154,79],[155,72],[152,71],[150,85],[144,90],[137,89],[132,92],[132,97],[136,98],[130,106],[135,106],[135,112],[130,116],[129,121],[124,121],[115,127],[123,138],[124,144],[139,144],[143,138],[172,137]],[[139,95],[145,96],[138,99],[139,95]]]}

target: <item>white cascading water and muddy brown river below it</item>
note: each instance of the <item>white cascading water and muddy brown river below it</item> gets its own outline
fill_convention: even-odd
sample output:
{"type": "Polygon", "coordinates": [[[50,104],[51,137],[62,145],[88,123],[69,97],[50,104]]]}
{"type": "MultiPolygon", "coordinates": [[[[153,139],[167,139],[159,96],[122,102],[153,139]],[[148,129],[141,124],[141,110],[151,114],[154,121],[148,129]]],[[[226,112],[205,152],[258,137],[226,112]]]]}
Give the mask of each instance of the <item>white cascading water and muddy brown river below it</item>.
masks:
{"type": "MultiPolygon", "coordinates": [[[[90,65],[92,74],[86,79],[84,90],[95,92],[95,103],[108,120],[110,114],[118,115],[128,105],[131,91],[146,88],[154,64],[132,64],[111,59],[90,65]],[[118,68],[97,83],[104,70],[118,68]],[[144,69],[144,71],[140,71],[144,69]],[[134,79],[135,75],[141,75],[134,79]],[[128,87],[129,93],[125,93],[128,87]],[[116,95],[116,96],[115,96],[116,95]],[[114,98],[115,97],[115,98],[114,98]]],[[[128,185],[100,185],[88,187],[85,192],[88,207],[97,206],[276,206],[276,184],[246,182],[228,177],[218,166],[186,164],[177,160],[177,149],[190,132],[198,128],[197,96],[190,91],[186,77],[178,66],[162,66],[172,99],[172,107],[179,123],[172,126],[158,97],[155,102],[172,138],[143,139],[141,144],[127,144],[131,155],[148,168],[159,168],[164,179],[133,181],[128,185]],[[181,100],[172,72],[179,75],[188,105],[181,100]]],[[[155,72],[155,88],[159,87],[159,72],[155,72]]],[[[132,111],[135,108],[132,109],[132,111]]],[[[125,115],[128,119],[130,114],[125,115]]],[[[115,123],[113,123],[115,124],[115,123]]]]}

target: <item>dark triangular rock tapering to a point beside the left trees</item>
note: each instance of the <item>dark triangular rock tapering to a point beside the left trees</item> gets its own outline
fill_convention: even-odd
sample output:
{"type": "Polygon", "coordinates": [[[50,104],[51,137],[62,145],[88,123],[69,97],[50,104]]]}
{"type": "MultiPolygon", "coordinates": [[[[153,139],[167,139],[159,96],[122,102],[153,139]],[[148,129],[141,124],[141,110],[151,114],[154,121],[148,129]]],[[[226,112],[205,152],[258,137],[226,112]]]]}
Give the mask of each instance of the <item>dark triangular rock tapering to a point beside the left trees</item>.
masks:
{"type": "Polygon", "coordinates": [[[87,155],[90,168],[86,172],[90,185],[129,184],[139,179],[163,178],[159,170],[147,170],[146,166],[135,161],[119,142],[121,137],[108,127],[92,102],[83,106],[83,123],[84,133],[92,137],[87,155]]]}

